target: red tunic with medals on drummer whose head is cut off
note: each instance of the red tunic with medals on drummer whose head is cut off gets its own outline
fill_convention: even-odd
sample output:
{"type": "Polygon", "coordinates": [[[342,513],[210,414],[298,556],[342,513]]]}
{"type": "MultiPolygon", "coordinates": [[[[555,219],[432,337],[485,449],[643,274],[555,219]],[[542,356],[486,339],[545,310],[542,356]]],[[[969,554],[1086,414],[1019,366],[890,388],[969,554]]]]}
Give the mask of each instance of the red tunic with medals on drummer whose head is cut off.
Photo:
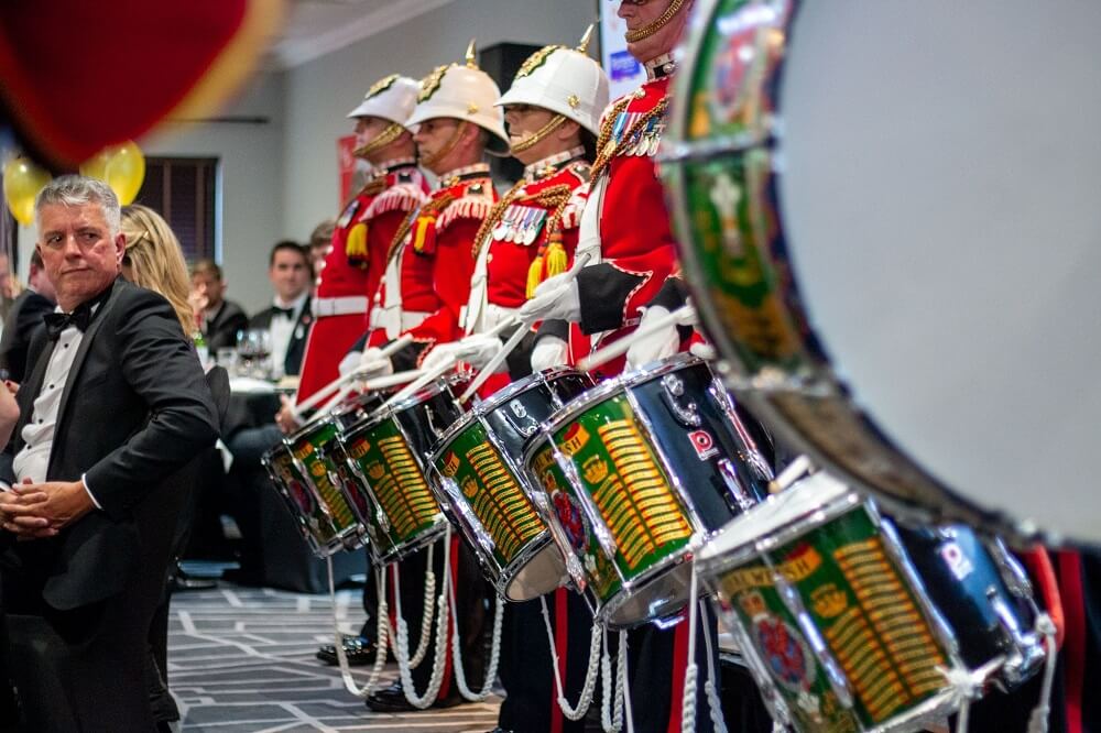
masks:
{"type": "MultiPolygon", "coordinates": [[[[589,206],[577,253],[592,260],[578,274],[581,320],[570,332],[574,359],[637,326],[641,306],[676,269],[676,244],[653,155],[665,130],[669,77],[614,101],[601,120],[589,206]]],[[[621,357],[599,371],[617,374],[621,357]]]]}

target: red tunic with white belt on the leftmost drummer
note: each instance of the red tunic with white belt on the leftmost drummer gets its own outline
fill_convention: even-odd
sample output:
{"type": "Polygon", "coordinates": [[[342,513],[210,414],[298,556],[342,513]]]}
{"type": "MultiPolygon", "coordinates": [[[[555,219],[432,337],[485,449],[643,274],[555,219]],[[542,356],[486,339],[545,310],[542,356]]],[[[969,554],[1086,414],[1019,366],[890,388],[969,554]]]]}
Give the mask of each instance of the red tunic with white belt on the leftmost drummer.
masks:
{"type": "Polygon", "coordinates": [[[317,320],[306,342],[299,402],[337,379],[340,359],[363,333],[369,296],[382,280],[390,242],[427,195],[414,161],[394,161],[380,166],[345,208],[318,276],[312,305],[317,320]]]}

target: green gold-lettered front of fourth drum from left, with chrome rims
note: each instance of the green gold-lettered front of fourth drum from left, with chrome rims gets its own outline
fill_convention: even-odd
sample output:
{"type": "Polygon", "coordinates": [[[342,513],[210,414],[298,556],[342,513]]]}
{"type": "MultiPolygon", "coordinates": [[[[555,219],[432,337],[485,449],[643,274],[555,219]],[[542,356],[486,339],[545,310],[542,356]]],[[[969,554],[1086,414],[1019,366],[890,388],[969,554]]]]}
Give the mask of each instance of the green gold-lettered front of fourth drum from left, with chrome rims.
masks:
{"type": "Polygon", "coordinates": [[[547,424],[549,442],[533,438],[524,460],[590,578],[595,617],[613,628],[684,606],[695,532],[624,384],[570,403],[547,424]],[[635,591],[651,581],[653,597],[639,608],[635,591]]]}

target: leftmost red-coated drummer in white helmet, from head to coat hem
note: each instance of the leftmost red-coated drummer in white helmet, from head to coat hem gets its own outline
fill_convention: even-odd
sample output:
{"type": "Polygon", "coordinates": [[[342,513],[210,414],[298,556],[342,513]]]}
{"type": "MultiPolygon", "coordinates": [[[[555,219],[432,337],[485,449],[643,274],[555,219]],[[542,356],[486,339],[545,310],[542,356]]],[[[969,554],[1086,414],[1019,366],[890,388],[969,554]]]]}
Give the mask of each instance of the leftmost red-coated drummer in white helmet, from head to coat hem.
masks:
{"type": "Polygon", "coordinates": [[[317,281],[316,322],[306,344],[297,401],[337,379],[337,364],[367,325],[370,296],[386,266],[390,242],[402,220],[427,198],[416,167],[413,133],[405,122],[419,86],[391,74],[373,84],[348,113],[356,120],[357,157],[372,175],[337,220],[333,245],[317,281]]]}

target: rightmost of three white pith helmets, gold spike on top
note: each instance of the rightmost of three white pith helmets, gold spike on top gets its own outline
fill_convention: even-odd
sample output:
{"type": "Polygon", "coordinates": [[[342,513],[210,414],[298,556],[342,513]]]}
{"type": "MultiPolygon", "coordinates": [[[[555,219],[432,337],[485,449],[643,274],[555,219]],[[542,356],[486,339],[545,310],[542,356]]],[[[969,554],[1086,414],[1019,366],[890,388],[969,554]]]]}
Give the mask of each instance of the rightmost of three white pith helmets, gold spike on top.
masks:
{"type": "Polygon", "coordinates": [[[591,36],[590,25],[577,48],[546,46],[532,54],[498,107],[542,107],[600,134],[600,114],[608,107],[608,75],[586,54],[591,36]]]}

